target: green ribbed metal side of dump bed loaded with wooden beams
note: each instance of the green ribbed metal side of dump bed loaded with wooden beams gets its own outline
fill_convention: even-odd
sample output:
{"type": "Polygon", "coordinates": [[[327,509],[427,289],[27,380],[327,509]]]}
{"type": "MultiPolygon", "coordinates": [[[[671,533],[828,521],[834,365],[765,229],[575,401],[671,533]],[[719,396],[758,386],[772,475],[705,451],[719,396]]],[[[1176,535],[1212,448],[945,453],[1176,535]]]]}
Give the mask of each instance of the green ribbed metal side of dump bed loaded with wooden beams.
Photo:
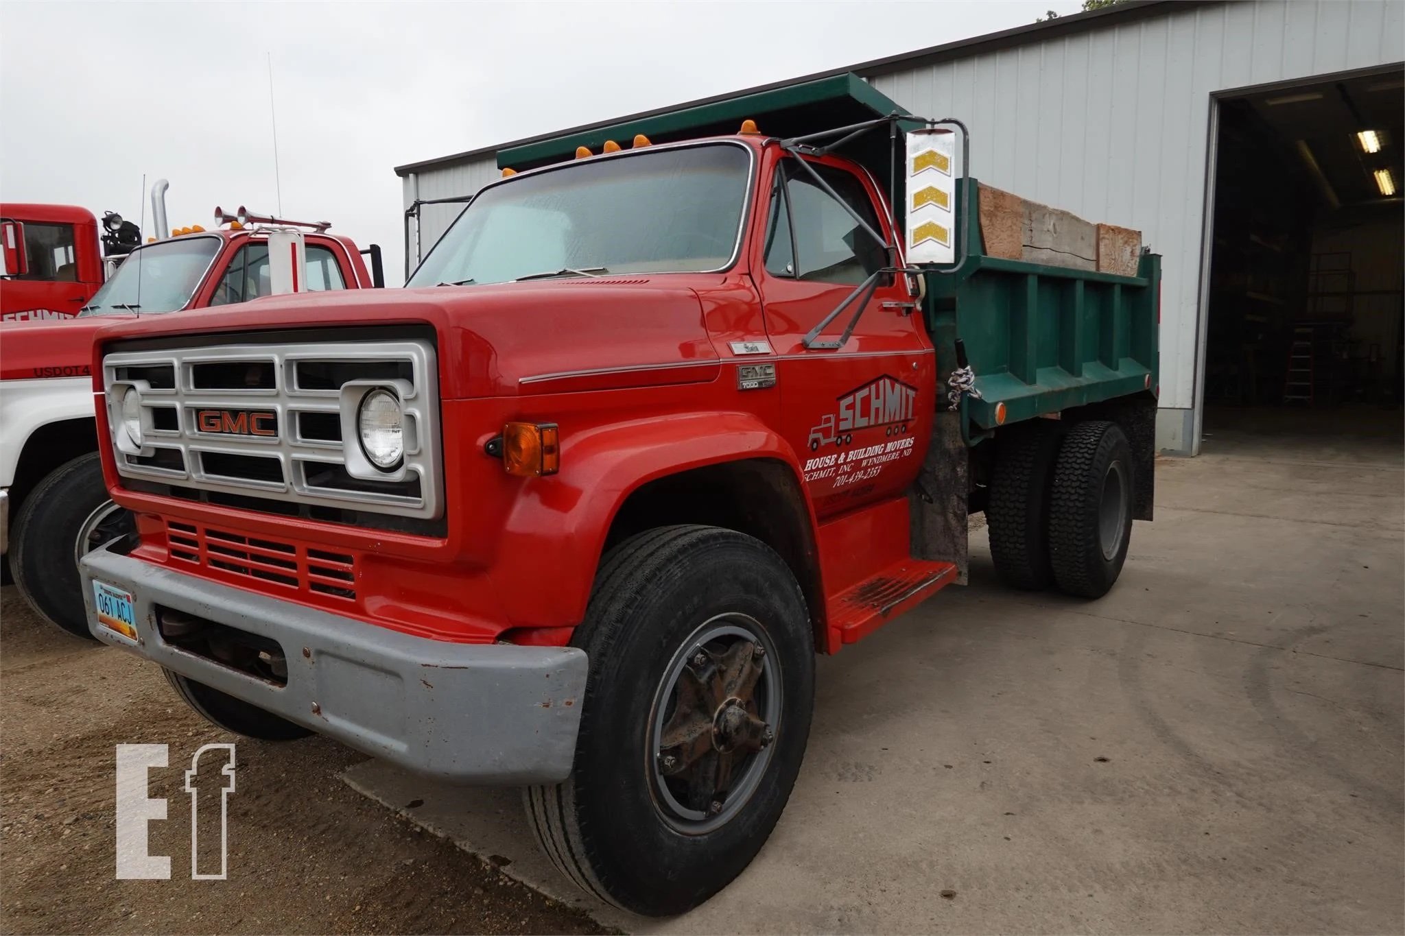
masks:
{"type": "Polygon", "coordinates": [[[967,397],[962,432],[979,442],[1009,425],[1113,397],[1155,393],[1161,257],[1144,251],[1135,276],[989,257],[981,187],[961,222],[969,255],[955,272],[927,274],[924,313],[941,373],[965,345],[981,399],[967,397]],[[1003,404],[1003,410],[1000,407],[1003,404]]]}

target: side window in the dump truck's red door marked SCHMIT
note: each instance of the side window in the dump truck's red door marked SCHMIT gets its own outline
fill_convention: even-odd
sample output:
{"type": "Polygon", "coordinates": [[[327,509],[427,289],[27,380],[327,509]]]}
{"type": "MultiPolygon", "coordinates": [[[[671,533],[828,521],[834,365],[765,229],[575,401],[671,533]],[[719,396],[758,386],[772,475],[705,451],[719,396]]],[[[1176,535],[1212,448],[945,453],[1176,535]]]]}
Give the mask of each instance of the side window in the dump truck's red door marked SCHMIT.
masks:
{"type": "Polygon", "coordinates": [[[771,198],[766,269],[776,276],[858,285],[887,265],[884,248],[858,226],[844,205],[875,232],[878,215],[851,174],[811,163],[844,203],[835,201],[804,168],[785,160],[771,198]]]}

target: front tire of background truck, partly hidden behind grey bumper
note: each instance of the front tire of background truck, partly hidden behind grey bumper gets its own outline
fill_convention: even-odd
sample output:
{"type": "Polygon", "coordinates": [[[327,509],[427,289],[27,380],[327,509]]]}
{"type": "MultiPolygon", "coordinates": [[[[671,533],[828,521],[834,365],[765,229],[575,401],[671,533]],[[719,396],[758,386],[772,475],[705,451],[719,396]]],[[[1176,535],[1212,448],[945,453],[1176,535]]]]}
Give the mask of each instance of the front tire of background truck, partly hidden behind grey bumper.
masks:
{"type": "Polygon", "coordinates": [[[91,640],[79,560],[132,529],[132,515],[107,495],[97,452],[80,455],[24,500],[10,554],[14,584],[49,623],[91,640]]]}

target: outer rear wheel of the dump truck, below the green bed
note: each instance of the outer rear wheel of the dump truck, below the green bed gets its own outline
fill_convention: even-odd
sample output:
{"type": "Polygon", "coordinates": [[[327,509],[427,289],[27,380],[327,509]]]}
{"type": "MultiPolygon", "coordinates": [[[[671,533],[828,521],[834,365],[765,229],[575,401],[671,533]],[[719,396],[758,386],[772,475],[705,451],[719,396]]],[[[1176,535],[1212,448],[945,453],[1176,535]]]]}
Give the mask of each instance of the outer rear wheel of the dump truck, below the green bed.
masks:
{"type": "Polygon", "coordinates": [[[1132,537],[1132,449],[1116,422],[1079,422],[1059,446],[1050,501],[1050,560],[1059,591],[1102,598],[1132,537]]]}

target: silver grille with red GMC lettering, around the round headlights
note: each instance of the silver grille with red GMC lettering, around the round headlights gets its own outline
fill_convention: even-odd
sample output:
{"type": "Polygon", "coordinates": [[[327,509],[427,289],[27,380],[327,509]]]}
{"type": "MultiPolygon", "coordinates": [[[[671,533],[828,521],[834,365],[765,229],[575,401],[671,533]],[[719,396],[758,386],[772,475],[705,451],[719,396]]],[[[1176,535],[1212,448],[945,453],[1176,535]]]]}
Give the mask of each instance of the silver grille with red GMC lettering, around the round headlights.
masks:
{"type": "Polygon", "coordinates": [[[437,518],[438,387],[429,341],[212,345],[103,359],[108,428],[124,477],[315,507],[437,518]],[[355,407],[392,387],[405,459],[392,472],[360,453],[355,407]],[[140,399],[142,445],[122,428],[140,399]]]}

